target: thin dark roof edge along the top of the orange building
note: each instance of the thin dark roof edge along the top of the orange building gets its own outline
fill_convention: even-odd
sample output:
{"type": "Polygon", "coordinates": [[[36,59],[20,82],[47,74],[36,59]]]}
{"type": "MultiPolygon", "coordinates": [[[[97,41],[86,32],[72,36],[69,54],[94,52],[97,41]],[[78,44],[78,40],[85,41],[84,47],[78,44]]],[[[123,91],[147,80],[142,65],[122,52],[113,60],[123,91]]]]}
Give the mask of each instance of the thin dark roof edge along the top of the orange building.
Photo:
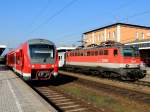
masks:
{"type": "Polygon", "coordinates": [[[128,23],[114,23],[114,24],[106,25],[106,26],[103,26],[103,27],[100,27],[100,28],[97,28],[97,29],[94,29],[94,30],[84,32],[83,34],[91,33],[91,32],[97,31],[97,30],[101,30],[101,29],[104,29],[104,28],[109,28],[109,27],[116,26],[116,25],[123,25],[123,26],[130,26],[130,27],[140,27],[140,28],[150,29],[149,26],[134,25],[134,24],[128,24],[128,23]]]}

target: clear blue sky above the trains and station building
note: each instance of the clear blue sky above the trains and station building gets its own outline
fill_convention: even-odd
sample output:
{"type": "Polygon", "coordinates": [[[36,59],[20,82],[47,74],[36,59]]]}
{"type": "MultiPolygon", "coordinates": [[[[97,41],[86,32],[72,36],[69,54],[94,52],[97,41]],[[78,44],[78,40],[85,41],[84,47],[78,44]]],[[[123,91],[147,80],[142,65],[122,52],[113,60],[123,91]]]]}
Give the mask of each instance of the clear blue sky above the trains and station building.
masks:
{"type": "Polygon", "coordinates": [[[45,38],[57,46],[77,45],[83,32],[115,22],[150,26],[150,0],[70,2],[0,0],[0,44],[17,47],[31,38],[45,38]]]}

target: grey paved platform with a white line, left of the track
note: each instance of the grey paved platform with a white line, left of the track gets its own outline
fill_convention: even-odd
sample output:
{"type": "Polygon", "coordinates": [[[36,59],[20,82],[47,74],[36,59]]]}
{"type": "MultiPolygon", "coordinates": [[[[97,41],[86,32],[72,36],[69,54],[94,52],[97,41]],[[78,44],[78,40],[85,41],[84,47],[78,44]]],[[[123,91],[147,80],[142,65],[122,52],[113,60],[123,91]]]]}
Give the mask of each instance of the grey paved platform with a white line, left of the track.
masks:
{"type": "Polygon", "coordinates": [[[57,112],[12,71],[0,66],[0,112],[57,112]]]}

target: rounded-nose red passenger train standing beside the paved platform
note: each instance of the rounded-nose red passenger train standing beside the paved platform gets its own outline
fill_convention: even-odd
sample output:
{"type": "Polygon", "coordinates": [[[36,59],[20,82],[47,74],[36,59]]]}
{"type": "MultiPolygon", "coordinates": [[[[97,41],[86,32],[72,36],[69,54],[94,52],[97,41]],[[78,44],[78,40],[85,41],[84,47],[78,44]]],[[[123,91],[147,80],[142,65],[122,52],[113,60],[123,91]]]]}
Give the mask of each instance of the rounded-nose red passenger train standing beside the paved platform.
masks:
{"type": "Polygon", "coordinates": [[[53,42],[31,39],[6,55],[6,64],[24,80],[48,80],[58,75],[58,53],[53,42]]]}

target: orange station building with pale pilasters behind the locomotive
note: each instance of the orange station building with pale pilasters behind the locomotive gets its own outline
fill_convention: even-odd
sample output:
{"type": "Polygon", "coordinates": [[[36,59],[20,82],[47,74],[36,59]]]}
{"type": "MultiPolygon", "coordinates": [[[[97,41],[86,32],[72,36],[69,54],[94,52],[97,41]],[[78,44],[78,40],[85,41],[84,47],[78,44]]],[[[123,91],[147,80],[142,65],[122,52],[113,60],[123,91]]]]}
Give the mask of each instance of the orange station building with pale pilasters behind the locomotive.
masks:
{"type": "Polygon", "coordinates": [[[141,57],[150,66],[150,27],[127,23],[114,23],[83,33],[84,46],[116,41],[140,50],[141,57]]]}

